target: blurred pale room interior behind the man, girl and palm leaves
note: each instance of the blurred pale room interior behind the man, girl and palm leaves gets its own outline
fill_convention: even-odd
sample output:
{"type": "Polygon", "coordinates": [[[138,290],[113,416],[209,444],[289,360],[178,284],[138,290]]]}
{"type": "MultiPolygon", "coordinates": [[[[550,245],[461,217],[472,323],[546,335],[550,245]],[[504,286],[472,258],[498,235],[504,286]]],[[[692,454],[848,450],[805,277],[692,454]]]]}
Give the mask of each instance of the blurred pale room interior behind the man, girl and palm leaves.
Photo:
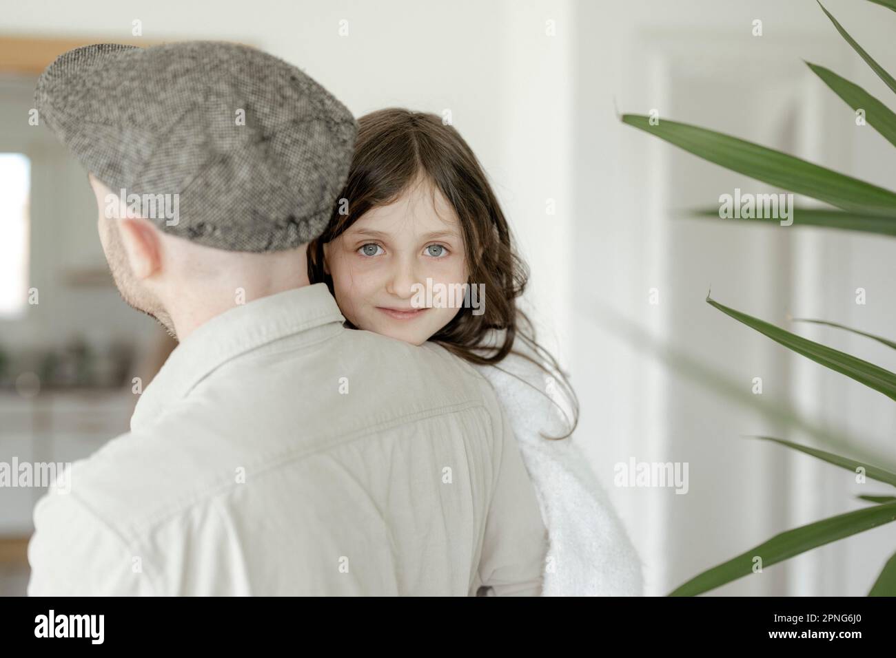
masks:
{"type": "MultiPolygon", "coordinates": [[[[884,66],[896,14],[828,0],[884,66]]],[[[773,534],[866,503],[848,471],[743,438],[769,434],[893,459],[892,401],[792,355],[721,303],[893,369],[896,244],[832,230],[680,218],[719,194],[771,192],[620,124],[617,112],[701,124],[884,187],[892,148],[811,73],[889,91],[814,0],[184,0],[20,3],[0,26],[0,462],[73,461],[125,432],[173,348],[119,297],[85,173],[29,124],[40,70],[70,47],[220,38],[297,64],[356,115],[444,115],[470,142],[530,263],[527,303],[572,375],[582,444],[644,560],[648,594],[773,534]],[[754,36],[754,21],[762,36],[754,36]],[[135,28],[140,34],[134,34],[135,28]],[[856,289],[866,304],[856,303],[856,289]],[[659,303],[650,303],[653,298],[659,303]],[[33,303],[34,291],[37,302],[33,303]],[[754,378],[762,377],[762,395],[754,378]],[[825,443],[825,441],[827,441],[825,443]],[[840,442],[840,443],[838,443],[840,442]],[[848,447],[844,448],[843,444],[848,447]],[[626,488],[614,466],[686,462],[688,492],[626,488]]],[[[892,103],[891,103],[892,106],[892,103]]],[[[835,450],[837,451],[837,450],[835,450]]],[[[24,594],[44,490],[0,489],[0,594],[24,594]]],[[[863,595],[896,547],[884,526],[712,594],[863,595]]]]}

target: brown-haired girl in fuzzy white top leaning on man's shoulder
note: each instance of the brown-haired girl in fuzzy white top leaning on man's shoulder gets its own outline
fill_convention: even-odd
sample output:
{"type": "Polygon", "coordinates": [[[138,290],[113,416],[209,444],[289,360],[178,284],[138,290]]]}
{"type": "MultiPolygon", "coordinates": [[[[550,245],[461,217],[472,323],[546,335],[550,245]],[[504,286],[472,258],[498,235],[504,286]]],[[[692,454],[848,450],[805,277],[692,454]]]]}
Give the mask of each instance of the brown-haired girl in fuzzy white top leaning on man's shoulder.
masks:
{"type": "Polygon", "coordinates": [[[358,126],[345,189],[308,245],[311,283],[349,328],[431,340],[492,383],[547,527],[543,595],[642,594],[640,560],[572,444],[578,399],[517,307],[528,270],[476,156],[437,115],[389,108],[358,126]]]}

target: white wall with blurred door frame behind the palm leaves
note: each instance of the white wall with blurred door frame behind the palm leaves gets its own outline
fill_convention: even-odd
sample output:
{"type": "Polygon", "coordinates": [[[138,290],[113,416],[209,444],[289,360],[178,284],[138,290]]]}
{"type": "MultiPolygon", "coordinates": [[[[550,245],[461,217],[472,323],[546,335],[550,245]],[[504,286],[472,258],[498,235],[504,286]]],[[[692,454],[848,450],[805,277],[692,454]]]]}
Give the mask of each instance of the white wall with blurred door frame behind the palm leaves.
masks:
{"type": "MultiPolygon", "coordinates": [[[[686,461],[690,491],[611,487],[648,562],[650,591],[790,527],[858,508],[849,472],[742,439],[770,433],[863,440],[892,455],[892,401],[788,352],[703,302],[787,325],[786,313],[892,335],[892,241],[829,231],[676,221],[670,206],[712,207],[722,192],[765,192],[643,132],[614,106],[704,124],[893,186],[893,153],[800,57],[887,98],[815,3],[630,2],[577,5],[578,96],[573,354],[590,454],[612,483],[629,457],[686,461]],[[763,21],[762,38],[751,35],[763,21]],[[864,284],[857,283],[862,281],[864,284]],[[876,301],[853,303],[857,286],[876,301]],[[660,291],[659,306],[647,291],[660,291]],[[762,376],[764,393],[750,392],[762,376]],[[710,383],[707,383],[709,380],[710,383]],[[788,418],[796,410],[798,419],[788,418]],[[802,419],[802,424],[799,420],[802,419]]],[[[875,56],[893,62],[896,15],[866,3],[829,9],[875,56]]],[[[880,363],[892,353],[833,329],[797,328],[880,363]]],[[[864,491],[880,491],[873,484],[864,491]]],[[[896,528],[831,544],[718,594],[866,594],[892,554],[896,528]]]]}

